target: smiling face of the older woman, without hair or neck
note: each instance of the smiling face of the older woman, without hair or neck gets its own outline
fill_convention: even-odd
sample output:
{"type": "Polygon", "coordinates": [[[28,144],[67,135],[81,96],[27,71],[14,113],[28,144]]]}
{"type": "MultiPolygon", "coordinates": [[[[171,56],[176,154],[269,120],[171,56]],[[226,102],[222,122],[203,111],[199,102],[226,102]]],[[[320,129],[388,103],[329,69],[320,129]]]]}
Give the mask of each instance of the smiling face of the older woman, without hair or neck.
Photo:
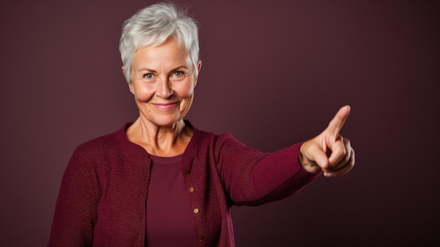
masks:
{"type": "MultiPolygon", "coordinates": [[[[197,77],[189,72],[194,70],[187,58],[188,52],[176,39],[134,53],[129,88],[143,120],[172,126],[188,113],[197,77]]],[[[199,62],[196,69],[200,66],[199,62]]]]}

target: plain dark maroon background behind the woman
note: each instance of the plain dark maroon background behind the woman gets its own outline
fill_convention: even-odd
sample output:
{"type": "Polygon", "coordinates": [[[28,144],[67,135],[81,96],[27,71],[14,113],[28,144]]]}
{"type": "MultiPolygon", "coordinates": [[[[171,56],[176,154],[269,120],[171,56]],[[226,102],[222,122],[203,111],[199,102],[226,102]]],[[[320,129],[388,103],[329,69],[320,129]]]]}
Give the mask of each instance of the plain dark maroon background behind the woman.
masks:
{"type": "MultiPolygon", "coordinates": [[[[354,170],[233,208],[238,246],[439,243],[436,1],[181,2],[200,22],[196,127],[276,151],[352,106],[354,170]]],[[[46,245],[75,146],[136,119],[117,46],[151,3],[1,1],[0,246],[46,245]]]]}

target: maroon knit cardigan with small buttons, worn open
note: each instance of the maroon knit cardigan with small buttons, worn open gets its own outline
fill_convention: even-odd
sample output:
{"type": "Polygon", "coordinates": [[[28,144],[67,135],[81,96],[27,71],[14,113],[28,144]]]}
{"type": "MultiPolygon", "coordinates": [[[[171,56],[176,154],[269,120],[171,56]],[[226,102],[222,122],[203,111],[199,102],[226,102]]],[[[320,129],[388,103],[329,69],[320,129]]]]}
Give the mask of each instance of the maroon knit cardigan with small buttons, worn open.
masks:
{"type": "MultiPolygon", "coordinates": [[[[151,160],[127,139],[128,126],[75,149],[63,175],[48,246],[145,246],[151,160]]],[[[181,169],[193,208],[195,246],[234,246],[232,205],[280,200],[321,174],[299,165],[301,144],[261,153],[229,133],[193,129],[181,169]]]]}

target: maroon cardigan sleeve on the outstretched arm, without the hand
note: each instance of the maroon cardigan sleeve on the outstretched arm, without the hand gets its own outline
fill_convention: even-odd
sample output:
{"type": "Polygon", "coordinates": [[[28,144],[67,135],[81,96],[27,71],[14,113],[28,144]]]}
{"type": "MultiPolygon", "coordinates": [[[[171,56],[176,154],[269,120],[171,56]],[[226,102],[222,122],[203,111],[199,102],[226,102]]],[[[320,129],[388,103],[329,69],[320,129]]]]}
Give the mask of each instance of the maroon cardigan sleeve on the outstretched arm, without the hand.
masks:
{"type": "Polygon", "coordinates": [[[274,153],[245,146],[232,134],[216,140],[216,162],[225,189],[234,205],[261,205],[295,194],[318,172],[307,172],[298,161],[302,143],[274,153]]]}

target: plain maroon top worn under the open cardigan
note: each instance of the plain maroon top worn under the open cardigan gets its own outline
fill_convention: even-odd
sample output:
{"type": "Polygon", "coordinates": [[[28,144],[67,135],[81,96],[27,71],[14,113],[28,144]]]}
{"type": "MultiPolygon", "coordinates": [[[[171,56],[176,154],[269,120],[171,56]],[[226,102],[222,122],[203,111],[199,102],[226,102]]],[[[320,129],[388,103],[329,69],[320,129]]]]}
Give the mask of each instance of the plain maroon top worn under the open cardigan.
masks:
{"type": "Polygon", "coordinates": [[[193,218],[181,172],[181,156],[150,155],[147,246],[194,246],[193,218]]]}

